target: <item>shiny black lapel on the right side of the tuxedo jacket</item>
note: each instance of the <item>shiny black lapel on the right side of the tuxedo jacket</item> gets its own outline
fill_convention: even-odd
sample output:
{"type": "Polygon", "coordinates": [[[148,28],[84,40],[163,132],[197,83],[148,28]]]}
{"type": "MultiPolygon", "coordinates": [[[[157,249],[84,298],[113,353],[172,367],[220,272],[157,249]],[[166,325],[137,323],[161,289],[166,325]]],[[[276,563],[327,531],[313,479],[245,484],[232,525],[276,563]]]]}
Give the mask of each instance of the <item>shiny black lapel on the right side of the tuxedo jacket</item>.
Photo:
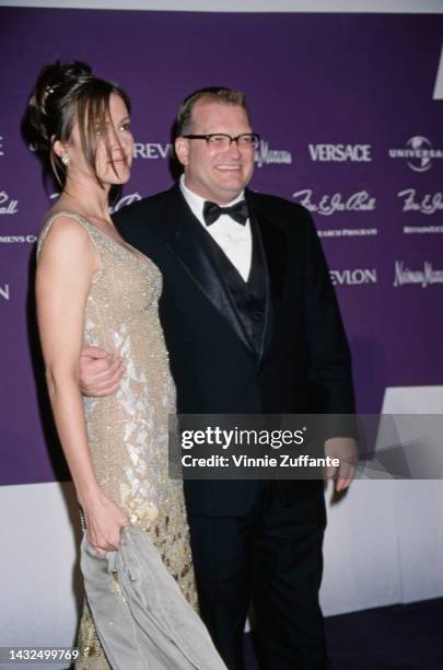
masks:
{"type": "Polygon", "coordinates": [[[266,317],[261,344],[261,355],[265,355],[272,337],[276,313],[281,304],[285,276],[285,235],[272,221],[254,207],[254,195],[246,190],[252,222],[258,230],[258,241],[261,244],[266,262],[266,317]]]}

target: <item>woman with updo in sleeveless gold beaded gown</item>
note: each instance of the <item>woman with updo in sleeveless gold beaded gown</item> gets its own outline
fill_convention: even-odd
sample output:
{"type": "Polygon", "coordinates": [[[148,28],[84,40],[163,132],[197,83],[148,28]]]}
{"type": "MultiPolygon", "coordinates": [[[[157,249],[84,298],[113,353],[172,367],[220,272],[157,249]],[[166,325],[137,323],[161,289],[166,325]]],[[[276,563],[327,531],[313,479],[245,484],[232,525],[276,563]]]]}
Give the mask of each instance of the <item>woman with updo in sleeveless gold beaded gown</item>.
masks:
{"type": "MultiPolygon", "coordinates": [[[[114,228],[108,196],[129,178],[129,100],[74,62],[45,67],[28,118],[62,185],[38,240],[38,327],[54,416],[88,540],[105,556],[121,528],[147,530],[188,602],[197,596],[183,486],[167,475],[175,388],[159,321],[162,277],[114,228]],[[82,397],[82,347],[113,351],[114,395],[82,397]]],[[[79,668],[108,668],[88,603],[79,668]]]]}

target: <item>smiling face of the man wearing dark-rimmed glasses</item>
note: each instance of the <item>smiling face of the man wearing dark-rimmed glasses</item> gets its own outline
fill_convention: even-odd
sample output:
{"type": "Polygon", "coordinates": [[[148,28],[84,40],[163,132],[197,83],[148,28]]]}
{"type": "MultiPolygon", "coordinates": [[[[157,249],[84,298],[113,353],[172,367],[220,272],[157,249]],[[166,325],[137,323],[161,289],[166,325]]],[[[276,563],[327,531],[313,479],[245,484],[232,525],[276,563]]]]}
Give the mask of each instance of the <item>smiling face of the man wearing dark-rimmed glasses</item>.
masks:
{"type": "MultiPolygon", "coordinates": [[[[212,101],[197,102],[193,109],[189,134],[224,132],[236,137],[252,132],[245,109],[212,101]]],[[[254,170],[254,149],[238,148],[236,142],[225,150],[208,146],[205,139],[177,138],[175,150],[185,168],[185,183],[201,197],[225,205],[243,190],[254,170]]]]}

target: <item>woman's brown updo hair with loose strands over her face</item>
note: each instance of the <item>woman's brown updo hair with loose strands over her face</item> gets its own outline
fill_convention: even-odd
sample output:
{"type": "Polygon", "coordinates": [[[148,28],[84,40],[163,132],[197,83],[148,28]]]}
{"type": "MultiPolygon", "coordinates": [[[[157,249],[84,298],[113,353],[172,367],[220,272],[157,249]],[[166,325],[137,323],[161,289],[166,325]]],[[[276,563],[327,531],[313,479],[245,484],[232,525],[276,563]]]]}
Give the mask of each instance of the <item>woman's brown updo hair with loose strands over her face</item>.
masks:
{"type": "MultiPolygon", "coordinates": [[[[104,138],[108,160],[113,164],[107,130],[109,97],[119,95],[130,111],[130,100],[117,84],[100,79],[92,68],[78,60],[62,65],[57,60],[38,73],[26,113],[26,125],[33,130],[32,143],[42,159],[63,185],[66,165],[54,152],[56,140],[69,142],[75,120],[79,124],[82,151],[88,165],[103,187],[96,166],[98,135],[104,138]]],[[[114,168],[115,170],[115,168],[114,168]]]]}

